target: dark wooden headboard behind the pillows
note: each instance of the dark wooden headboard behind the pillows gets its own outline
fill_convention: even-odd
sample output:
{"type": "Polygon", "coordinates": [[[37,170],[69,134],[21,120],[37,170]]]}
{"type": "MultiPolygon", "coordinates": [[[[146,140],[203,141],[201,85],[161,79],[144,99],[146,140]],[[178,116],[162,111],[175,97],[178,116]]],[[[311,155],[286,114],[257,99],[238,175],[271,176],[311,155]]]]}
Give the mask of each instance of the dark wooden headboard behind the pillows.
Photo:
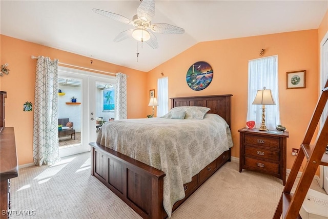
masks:
{"type": "Polygon", "coordinates": [[[171,109],[181,106],[201,106],[211,108],[208,113],[215,113],[224,118],[231,130],[231,97],[232,94],[213,96],[172,97],[171,109]]]}

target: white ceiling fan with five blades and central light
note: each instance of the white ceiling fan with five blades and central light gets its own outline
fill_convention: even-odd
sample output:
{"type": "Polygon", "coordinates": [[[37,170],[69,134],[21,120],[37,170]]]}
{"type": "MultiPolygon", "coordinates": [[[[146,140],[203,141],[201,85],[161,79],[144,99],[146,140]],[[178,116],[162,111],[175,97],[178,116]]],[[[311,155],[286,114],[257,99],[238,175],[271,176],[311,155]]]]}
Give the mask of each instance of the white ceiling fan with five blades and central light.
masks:
{"type": "Polygon", "coordinates": [[[185,32],[185,29],[183,28],[166,23],[151,24],[151,20],[155,15],[155,0],[142,0],[137,9],[137,14],[133,16],[132,20],[125,16],[96,8],[92,9],[92,11],[97,14],[109,17],[115,21],[131,24],[134,26],[134,29],[129,29],[119,33],[114,38],[114,42],[120,42],[132,36],[137,41],[141,43],[146,42],[153,49],[157,49],[157,38],[149,30],[162,34],[182,34],[185,32]]]}

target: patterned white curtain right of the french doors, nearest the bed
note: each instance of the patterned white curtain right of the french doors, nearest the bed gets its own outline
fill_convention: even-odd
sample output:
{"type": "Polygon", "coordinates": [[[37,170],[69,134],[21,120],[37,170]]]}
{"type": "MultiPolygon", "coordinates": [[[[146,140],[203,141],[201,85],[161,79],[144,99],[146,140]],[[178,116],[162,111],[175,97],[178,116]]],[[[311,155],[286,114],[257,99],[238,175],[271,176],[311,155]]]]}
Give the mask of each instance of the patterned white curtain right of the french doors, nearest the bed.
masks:
{"type": "Polygon", "coordinates": [[[127,75],[116,74],[115,84],[115,120],[127,118],[127,75]]]}

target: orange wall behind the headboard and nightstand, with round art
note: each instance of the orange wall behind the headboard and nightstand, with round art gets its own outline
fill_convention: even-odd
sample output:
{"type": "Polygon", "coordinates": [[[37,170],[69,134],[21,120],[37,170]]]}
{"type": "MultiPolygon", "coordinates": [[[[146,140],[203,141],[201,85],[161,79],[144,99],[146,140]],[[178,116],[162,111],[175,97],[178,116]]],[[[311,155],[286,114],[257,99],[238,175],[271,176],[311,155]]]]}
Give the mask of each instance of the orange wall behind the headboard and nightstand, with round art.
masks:
{"type": "MultiPolygon", "coordinates": [[[[296,31],[261,36],[202,42],[148,72],[148,88],[157,87],[163,72],[169,77],[169,97],[233,94],[232,156],[239,157],[238,129],[245,127],[248,102],[248,61],[278,55],[279,103],[281,124],[289,131],[287,168],[295,157],[292,148],[299,148],[318,98],[318,30],[296,31]],[[213,81],[201,91],[191,90],[186,83],[189,67],[208,62],[213,68],[213,81]],[[306,88],[286,90],[286,72],[306,70],[306,88]]],[[[270,113],[270,112],[268,112],[270,113]]]]}

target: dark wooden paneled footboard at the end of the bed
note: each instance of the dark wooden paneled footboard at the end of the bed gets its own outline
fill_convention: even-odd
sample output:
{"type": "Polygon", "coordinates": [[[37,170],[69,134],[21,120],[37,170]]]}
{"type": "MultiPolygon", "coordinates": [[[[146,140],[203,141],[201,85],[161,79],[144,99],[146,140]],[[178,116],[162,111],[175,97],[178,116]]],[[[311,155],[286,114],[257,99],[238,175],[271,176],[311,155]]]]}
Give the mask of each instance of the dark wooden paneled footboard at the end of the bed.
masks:
{"type": "Polygon", "coordinates": [[[143,218],[163,218],[165,173],[133,158],[90,143],[91,174],[143,218]]]}

